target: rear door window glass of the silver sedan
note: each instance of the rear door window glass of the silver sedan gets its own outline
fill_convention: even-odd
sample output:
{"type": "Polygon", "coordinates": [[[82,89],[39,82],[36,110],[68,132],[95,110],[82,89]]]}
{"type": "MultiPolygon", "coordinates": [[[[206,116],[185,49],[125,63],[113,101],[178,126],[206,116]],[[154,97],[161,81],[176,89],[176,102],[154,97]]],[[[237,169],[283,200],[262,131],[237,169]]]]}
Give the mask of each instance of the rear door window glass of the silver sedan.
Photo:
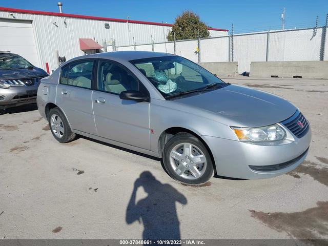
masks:
{"type": "Polygon", "coordinates": [[[61,70],[60,84],[91,89],[93,61],[77,61],[61,70]]]}

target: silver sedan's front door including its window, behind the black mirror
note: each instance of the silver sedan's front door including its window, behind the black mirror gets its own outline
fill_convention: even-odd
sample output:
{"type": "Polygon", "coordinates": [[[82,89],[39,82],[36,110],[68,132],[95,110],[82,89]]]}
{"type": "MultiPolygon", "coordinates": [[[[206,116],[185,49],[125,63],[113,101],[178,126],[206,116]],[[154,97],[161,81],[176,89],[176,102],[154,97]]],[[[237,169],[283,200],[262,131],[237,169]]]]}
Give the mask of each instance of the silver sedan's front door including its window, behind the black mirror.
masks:
{"type": "Polygon", "coordinates": [[[149,103],[119,98],[122,91],[148,93],[146,88],[129,70],[113,61],[99,60],[97,77],[92,102],[98,135],[149,150],[149,103]]]}

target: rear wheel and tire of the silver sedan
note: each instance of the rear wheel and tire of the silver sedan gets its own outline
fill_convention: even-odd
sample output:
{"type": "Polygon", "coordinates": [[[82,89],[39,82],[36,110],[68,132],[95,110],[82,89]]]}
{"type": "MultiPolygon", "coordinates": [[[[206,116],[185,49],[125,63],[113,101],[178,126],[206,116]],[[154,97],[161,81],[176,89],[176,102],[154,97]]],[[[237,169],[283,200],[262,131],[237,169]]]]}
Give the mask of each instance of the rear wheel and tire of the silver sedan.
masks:
{"type": "Polygon", "coordinates": [[[76,134],[72,132],[65,115],[59,108],[53,108],[49,111],[48,122],[50,131],[58,142],[70,142],[76,137],[76,134]]]}

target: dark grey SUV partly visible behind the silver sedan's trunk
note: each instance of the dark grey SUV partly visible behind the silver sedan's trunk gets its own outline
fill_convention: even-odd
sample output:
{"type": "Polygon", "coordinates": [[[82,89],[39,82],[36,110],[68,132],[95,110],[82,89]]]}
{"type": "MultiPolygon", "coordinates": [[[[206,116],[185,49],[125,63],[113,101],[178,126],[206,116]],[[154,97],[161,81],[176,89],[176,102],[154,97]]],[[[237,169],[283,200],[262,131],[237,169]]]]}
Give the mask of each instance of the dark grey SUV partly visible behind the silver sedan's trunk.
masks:
{"type": "Polygon", "coordinates": [[[46,76],[22,56],[0,51],[0,110],[35,103],[39,81],[46,76]]]}

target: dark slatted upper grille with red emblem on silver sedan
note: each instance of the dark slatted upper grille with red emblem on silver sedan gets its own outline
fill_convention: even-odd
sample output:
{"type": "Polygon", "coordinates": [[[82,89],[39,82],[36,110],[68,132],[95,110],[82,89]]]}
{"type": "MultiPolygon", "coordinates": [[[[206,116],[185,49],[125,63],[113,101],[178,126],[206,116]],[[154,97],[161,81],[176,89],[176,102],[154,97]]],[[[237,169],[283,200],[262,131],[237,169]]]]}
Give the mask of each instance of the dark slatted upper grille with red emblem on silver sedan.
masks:
{"type": "Polygon", "coordinates": [[[298,110],[292,117],[281,121],[280,123],[298,138],[303,137],[309,131],[308,121],[306,121],[305,117],[298,110]]]}

